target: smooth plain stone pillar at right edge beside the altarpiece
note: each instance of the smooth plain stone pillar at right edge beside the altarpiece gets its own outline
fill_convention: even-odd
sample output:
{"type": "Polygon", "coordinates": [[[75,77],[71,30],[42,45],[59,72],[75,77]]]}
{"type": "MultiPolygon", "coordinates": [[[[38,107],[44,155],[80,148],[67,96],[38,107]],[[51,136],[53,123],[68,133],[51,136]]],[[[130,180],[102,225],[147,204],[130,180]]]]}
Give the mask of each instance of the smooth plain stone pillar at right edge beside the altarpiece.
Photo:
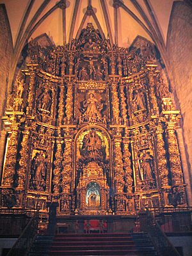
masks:
{"type": "Polygon", "coordinates": [[[190,179],[188,163],[187,163],[187,159],[186,159],[186,150],[185,150],[185,145],[184,145],[184,140],[183,140],[183,135],[182,135],[182,129],[178,128],[176,130],[176,132],[177,132],[177,140],[178,140],[178,144],[179,144],[182,170],[183,170],[183,174],[184,174],[184,182],[187,185],[186,192],[187,192],[187,197],[188,197],[188,205],[191,207],[192,206],[191,179],[190,179]]]}

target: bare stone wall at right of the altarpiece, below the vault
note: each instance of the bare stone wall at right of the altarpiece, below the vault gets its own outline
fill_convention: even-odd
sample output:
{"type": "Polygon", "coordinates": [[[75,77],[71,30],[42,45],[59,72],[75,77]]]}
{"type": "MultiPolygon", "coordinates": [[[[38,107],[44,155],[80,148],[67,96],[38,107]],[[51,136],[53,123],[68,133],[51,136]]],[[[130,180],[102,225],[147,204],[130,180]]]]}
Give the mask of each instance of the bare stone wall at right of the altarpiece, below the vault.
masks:
{"type": "Polygon", "coordinates": [[[173,3],[167,36],[167,50],[173,72],[175,102],[182,113],[188,170],[192,169],[192,8],[173,3]]]}

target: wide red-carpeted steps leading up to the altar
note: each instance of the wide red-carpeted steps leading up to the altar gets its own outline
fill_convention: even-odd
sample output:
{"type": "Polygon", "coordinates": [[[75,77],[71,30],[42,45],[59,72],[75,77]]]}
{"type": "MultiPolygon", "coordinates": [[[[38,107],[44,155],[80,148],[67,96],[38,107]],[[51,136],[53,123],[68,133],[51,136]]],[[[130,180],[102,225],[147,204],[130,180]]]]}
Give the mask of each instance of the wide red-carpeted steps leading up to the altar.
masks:
{"type": "MultiPolygon", "coordinates": [[[[41,254],[41,256],[43,255],[45,254],[41,254]]],[[[147,234],[108,233],[57,234],[52,241],[52,245],[48,255],[154,256],[157,254],[147,234]]]]}

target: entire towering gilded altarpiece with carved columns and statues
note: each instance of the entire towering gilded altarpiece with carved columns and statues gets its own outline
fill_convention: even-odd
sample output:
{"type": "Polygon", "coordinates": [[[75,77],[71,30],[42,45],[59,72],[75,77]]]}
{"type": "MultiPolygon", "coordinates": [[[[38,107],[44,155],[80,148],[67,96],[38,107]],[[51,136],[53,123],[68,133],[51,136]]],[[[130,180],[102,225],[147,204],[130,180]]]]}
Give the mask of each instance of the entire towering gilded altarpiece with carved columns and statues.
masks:
{"type": "Polygon", "coordinates": [[[154,45],[120,48],[88,23],[72,44],[35,39],[27,54],[2,118],[1,206],[47,216],[47,202],[76,215],[186,205],[180,113],[154,45]]]}

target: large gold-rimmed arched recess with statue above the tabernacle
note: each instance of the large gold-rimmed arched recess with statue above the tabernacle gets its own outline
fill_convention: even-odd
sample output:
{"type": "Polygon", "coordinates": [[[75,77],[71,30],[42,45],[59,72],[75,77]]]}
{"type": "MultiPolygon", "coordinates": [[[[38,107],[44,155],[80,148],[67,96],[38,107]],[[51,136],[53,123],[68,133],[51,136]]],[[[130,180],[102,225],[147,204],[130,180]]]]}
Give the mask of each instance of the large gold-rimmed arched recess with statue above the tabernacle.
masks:
{"type": "Polygon", "coordinates": [[[108,185],[113,187],[111,137],[101,125],[85,126],[74,140],[73,188],[77,187],[83,168],[95,161],[104,171],[108,185]]]}

